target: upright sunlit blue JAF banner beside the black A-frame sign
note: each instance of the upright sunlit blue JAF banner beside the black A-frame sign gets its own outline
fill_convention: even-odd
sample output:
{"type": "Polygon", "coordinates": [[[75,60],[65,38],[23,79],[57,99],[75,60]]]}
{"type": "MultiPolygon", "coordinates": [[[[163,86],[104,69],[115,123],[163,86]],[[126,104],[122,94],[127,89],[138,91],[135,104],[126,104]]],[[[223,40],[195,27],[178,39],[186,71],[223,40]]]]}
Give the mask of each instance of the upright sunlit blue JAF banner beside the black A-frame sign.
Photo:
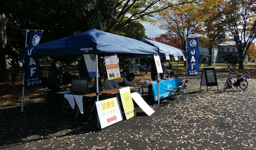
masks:
{"type": "Polygon", "coordinates": [[[199,75],[198,38],[187,38],[187,76],[199,75]]]}

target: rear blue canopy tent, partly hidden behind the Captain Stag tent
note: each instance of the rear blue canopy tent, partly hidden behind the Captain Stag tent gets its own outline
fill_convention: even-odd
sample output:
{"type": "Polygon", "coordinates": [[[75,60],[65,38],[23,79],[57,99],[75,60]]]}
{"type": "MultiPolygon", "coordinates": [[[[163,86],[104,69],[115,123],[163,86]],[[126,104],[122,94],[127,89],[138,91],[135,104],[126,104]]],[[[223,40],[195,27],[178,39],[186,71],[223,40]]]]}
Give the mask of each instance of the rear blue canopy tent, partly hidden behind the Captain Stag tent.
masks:
{"type": "MultiPolygon", "coordinates": [[[[185,56],[187,57],[187,53],[186,51],[183,51],[183,50],[180,50],[180,49],[177,49],[173,46],[170,46],[170,45],[166,45],[166,44],[163,44],[163,43],[159,43],[159,42],[156,42],[156,41],[152,41],[152,40],[148,40],[146,38],[141,38],[140,39],[141,42],[144,42],[146,44],[149,44],[151,46],[154,46],[154,47],[157,47],[158,48],[158,55],[165,55],[165,54],[169,54],[169,55],[177,55],[177,56],[185,56]]],[[[157,82],[158,82],[158,104],[160,103],[160,100],[159,100],[159,73],[158,73],[158,77],[157,77],[157,82]]]]}

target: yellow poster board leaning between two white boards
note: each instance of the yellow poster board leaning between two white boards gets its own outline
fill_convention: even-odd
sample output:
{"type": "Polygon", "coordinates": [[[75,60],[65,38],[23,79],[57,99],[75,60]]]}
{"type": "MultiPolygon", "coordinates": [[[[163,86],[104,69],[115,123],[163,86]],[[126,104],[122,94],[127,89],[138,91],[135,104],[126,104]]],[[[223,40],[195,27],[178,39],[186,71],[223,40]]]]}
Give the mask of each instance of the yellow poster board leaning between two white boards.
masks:
{"type": "Polygon", "coordinates": [[[136,115],[136,112],[132,102],[130,87],[120,88],[119,92],[120,92],[120,97],[122,100],[126,119],[134,117],[136,115]]]}

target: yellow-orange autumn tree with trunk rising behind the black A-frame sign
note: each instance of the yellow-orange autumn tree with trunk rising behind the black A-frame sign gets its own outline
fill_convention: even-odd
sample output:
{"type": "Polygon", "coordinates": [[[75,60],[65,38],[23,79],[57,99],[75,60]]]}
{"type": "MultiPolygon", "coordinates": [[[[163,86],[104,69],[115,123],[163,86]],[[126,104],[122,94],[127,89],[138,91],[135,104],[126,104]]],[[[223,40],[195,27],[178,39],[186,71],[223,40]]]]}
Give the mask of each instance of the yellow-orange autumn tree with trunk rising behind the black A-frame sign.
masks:
{"type": "Polygon", "coordinates": [[[200,45],[208,49],[210,55],[208,65],[212,65],[212,48],[224,38],[223,15],[219,9],[222,3],[223,0],[204,0],[198,4],[196,11],[199,21],[196,32],[202,35],[199,36],[200,45]]]}

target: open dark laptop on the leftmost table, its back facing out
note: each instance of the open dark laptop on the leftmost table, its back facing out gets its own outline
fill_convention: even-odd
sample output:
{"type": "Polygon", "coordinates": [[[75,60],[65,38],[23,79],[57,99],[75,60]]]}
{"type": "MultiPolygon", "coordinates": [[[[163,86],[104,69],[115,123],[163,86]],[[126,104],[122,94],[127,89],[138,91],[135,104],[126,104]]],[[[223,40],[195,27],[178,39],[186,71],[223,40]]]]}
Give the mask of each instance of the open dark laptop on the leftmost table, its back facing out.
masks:
{"type": "Polygon", "coordinates": [[[88,92],[88,81],[81,79],[72,79],[71,94],[85,95],[88,92]]]}

